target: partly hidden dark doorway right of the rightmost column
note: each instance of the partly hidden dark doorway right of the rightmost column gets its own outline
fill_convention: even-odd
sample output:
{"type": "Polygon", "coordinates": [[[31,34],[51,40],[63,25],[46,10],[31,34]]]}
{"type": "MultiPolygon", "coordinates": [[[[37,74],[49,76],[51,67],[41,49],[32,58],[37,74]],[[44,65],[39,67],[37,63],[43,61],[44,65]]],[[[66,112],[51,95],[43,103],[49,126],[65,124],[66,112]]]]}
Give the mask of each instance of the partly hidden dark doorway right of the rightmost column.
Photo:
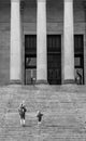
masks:
{"type": "Polygon", "coordinates": [[[84,36],[74,36],[75,78],[80,77],[80,85],[84,85],[84,36]]]}

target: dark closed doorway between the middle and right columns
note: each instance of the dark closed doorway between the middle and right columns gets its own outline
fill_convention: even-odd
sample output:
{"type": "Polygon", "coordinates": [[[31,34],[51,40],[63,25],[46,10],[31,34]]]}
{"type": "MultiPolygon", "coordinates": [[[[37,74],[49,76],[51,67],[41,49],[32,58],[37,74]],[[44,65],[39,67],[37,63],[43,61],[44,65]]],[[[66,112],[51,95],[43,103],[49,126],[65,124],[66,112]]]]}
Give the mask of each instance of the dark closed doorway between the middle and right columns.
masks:
{"type": "Polygon", "coordinates": [[[47,36],[47,80],[49,85],[61,85],[61,36],[47,36]]]}

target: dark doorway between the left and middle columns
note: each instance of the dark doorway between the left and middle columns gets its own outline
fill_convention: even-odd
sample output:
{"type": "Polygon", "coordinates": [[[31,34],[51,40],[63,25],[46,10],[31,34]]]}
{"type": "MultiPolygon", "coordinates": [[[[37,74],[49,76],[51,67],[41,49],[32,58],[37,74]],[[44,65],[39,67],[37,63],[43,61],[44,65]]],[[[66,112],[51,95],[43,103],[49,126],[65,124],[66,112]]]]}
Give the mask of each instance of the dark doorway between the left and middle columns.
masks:
{"type": "Polygon", "coordinates": [[[37,78],[37,36],[25,35],[25,85],[37,78]]]}

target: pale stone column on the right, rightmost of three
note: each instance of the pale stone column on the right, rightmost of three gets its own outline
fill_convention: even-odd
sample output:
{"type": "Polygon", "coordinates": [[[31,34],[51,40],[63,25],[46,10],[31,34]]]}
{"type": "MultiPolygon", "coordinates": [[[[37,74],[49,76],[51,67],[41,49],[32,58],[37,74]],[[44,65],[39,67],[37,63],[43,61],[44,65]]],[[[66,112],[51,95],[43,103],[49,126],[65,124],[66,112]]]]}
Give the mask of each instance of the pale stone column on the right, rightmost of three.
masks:
{"type": "Polygon", "coordinates": [[[63,84],[74,84],[73,0],[64,0],[63,84]]]}

